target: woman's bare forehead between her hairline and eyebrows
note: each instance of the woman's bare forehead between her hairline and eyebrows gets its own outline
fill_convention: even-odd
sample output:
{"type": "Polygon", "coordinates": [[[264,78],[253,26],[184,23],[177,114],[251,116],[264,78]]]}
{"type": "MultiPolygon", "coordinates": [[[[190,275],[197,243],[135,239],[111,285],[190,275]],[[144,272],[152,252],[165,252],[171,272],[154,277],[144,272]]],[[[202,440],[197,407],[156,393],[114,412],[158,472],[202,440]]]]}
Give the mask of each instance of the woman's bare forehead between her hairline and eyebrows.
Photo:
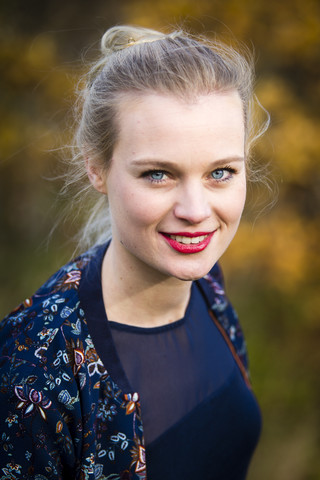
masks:
{"type": "Polygon", "coordinates": [[[183,146],[193,150],[201,144],[219,150],[228,144],[242,147],[244,142],[243,108],[236,91],[199,95],[192,101],[156,93],[128,95],[117,117],[115,151],[159,153],[183,146]]]}

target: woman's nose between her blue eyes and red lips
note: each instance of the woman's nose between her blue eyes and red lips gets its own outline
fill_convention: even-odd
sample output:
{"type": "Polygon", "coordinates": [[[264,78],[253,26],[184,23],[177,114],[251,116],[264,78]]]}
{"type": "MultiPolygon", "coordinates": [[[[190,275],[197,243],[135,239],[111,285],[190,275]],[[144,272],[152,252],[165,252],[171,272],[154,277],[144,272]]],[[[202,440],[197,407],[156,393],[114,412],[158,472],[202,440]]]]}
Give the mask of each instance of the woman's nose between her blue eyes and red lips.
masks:
{"type": "Polygon", "coordinates": [[[181,186],[174,207],[176,218],[189,224],[200,224],[208,219],[212,214],[208,194],[202,183],[189,182],[181,186]]]}

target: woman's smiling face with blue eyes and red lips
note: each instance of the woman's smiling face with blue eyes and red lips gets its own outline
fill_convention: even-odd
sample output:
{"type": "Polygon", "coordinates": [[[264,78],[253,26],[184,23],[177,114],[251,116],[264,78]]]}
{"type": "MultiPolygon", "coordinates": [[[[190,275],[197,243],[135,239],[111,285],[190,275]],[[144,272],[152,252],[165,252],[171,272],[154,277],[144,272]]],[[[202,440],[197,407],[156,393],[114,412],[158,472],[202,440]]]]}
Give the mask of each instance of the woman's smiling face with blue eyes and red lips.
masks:
{"type": "Polygon", "coordinates": [[[239,95],[131,96],[119,113],[105,180],[112,254],[141,275],[201,278],[231,242],[245,203],[239,95]]]}

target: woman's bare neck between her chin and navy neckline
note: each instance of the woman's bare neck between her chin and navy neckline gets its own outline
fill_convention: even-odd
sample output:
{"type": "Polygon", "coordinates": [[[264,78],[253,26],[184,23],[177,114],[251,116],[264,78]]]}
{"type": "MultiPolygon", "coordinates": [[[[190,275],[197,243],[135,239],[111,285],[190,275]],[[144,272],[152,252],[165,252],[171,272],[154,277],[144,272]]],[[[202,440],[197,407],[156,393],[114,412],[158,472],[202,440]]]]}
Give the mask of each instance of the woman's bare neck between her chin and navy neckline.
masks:
{"type": "Polygon", "coordinates": [[[145,264],[140,266],[143,268],[137,262],[130,265],[121,261],[111,242],[102,264],[102,292],[109,320],[148,328],[182,318],[191,281],[155,272],[145,264]]]}

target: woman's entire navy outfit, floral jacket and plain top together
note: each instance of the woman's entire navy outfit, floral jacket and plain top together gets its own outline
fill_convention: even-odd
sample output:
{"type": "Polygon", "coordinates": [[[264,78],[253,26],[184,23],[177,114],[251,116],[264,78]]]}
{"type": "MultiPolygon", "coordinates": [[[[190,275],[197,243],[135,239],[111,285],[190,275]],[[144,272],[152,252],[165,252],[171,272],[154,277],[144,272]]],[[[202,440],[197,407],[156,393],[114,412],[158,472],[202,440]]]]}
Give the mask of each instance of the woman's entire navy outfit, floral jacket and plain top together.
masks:
{"type": "Polygon", "coordinates": [[[106,317],[107,248],[64,265],[0,322],[4,474],[243,480],[260,414],[219,266],[193,283],[184,318],[136,329],[106,317]]]}

